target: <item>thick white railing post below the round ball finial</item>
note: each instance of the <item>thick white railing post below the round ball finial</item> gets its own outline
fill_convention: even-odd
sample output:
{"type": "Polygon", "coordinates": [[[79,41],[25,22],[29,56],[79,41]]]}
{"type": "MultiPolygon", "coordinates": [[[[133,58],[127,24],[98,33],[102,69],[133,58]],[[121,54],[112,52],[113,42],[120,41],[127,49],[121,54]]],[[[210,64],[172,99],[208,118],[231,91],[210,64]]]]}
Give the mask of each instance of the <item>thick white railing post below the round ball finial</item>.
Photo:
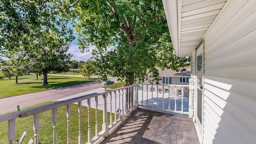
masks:
{"type": "Polygon", "coordinates": [[[106,138],[108,137],[108,121],[107,121],[107,94],[103,94],[103,124],[102,124],[102,130],[105,132],[103,134],[103,137],[106,138]]]}

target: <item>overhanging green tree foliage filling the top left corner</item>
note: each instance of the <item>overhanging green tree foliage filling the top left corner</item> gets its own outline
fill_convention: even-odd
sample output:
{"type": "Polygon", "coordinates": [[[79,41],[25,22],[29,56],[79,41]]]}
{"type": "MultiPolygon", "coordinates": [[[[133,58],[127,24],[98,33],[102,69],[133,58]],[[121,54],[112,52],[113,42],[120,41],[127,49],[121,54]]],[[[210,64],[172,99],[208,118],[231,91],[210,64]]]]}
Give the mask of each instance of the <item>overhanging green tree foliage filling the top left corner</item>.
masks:
{"type": "Polygon", "coordinates": [[[42,32],[73,39],[70,10],[79,0],[1,0],[0,51],[28,48],[42,32]]]}

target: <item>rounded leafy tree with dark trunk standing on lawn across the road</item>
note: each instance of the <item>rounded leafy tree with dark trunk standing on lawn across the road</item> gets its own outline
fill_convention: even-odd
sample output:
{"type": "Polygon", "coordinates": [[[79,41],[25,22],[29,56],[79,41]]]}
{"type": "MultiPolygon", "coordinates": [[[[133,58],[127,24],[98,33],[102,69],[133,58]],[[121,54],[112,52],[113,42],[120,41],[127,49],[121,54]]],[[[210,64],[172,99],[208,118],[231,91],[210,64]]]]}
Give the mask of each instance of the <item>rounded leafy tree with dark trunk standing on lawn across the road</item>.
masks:
{"type": "Polygon", "coordinates": [[[28,52],[34,70],[44,75],[43,85],[48,84],[47,74],[50,70],[63,72],[67,70],[72,55],[67,53],[69,44],[53,33],[46,34],[33,43],[35,48],[28,52]]]}

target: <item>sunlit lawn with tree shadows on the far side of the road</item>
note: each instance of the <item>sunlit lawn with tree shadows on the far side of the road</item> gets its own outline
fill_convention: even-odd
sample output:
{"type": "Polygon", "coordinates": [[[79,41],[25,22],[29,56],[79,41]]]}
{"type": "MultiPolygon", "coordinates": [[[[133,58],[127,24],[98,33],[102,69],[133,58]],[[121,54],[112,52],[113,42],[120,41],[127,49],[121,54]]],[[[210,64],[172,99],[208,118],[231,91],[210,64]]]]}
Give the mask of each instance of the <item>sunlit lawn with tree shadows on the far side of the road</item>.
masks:
{"type": "Polygon", "coordinates": [[[36,80],[36,75],[33,74],[19,76],[18,84],[15,84],[15,77],[12,77],[10,80],[9,78],[4,78],[4,80],[0,81],[0,98],[94,82],[97,80],[97,78],[90,78],[90,80],[88,80],[88,78],[84,77],[48,76],[48,85],[43,86],[43,76],[38,76],[38,80],[36,80]]]}

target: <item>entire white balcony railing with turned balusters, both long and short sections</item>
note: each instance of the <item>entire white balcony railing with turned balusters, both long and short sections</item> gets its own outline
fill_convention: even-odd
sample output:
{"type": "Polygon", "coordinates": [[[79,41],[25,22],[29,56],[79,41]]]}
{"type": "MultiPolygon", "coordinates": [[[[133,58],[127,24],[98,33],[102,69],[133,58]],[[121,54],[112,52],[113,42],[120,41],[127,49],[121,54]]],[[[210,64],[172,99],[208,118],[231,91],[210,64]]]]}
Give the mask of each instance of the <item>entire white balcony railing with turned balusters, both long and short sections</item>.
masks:
{"type": "MultiPolygon", "coordinates": [[[[95,143],[102,137],[107,137],[109,131],[122,121],[130,112],[132,112],[138,106],[144,108],[150,108],[152,110],[164,110],[168,112],[177,112],[182,114],[188,114],[192,110],[192,101],[189,100],[187,92],[188,86],[180,85],[156,85],[156,84],[133,84],[114,90],[105,90],[98,93],[88,94],[77,98],[72,98],[44,106],[38,106],[36,108],[30,108],[10,114],[4,114],[0,116],[0,122],[8,121],[8,142],[14,143],[16,132],[16,118],[24,118],[33,116],[34,118],[34,142],[39,142],[39,114],[46,111],[52,111],[52,132],[53,132],[53,144],[57,143],[56,124],[57,124],[57,108],[66,106],[67,117],[67,144],[70,143],[70,108],[71,104],[76,103],[78,105],[78,119],[79,119],[79,132],[78,144],[82,144],[82,120],[81,110],[82,102],[87,102],[85,105],[88,108],[88,142],[95,143]],[[141,88],[140,88],[141,87],[141,88]],[[162,90],[159,90],[161,87],[162,90]],[[155,89],[155,92],[150,92],[155,89]],[[174,91],[173,91],[174,90],[174,91]],[[168,92],[167,92],[168,91],[168,92]],[[180,92],[180,94],[179,94],[180,92]],[[184,96],[185,94],[185,96],[184,96]],[[150,97],[151,96],[151,97],[150,97]],[[190,102],[191,101],[191,102],[190,102]],[[91,131],[91,119],[90,108],[95,108],[95,134],[91,131]],[[98,129],[98,110],[103,111],[103,124],[102,131],[98,129]],[[110,124],[107,121],[107,112],[110,112],[110,124]],[[114,116],[114,118],[112,118],[114,116]],[[114,121],[113,121],[113,120],[114,121]]],[[[192,96],[191,90],[189,90],[189,96],[192,96]]],[[[83,104],[84,105],[84,104],[83,104]]],[[[43,129],[43,128],[42,128],[43,129]]]]}

